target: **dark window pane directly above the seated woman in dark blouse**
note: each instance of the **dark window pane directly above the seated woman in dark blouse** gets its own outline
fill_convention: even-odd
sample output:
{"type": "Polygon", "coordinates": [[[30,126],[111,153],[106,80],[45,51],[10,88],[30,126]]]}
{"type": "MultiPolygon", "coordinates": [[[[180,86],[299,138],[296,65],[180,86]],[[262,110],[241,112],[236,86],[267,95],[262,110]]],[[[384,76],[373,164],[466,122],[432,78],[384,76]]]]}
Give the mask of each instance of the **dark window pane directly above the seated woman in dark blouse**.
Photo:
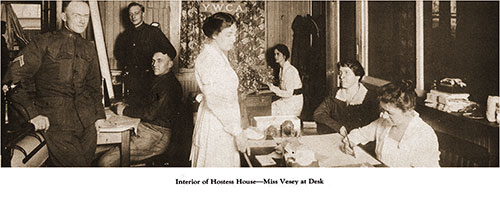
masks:
{"type": "Polygon", "coordinates": [[[415,2],[368,2],[368,31],[368,75],[415,82],[415,2]]]}

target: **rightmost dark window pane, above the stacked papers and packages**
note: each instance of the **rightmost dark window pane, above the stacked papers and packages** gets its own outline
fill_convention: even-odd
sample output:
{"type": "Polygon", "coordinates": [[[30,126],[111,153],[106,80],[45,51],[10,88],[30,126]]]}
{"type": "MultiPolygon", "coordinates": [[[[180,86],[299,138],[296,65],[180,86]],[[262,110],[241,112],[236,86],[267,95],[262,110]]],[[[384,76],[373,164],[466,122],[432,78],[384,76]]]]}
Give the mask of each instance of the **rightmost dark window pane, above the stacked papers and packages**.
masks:
{"type": "Polygon", "coordinates": [[[498,2],[424,2],[424,82],[465,80],[471,100],[498,95],[498,2]]]}

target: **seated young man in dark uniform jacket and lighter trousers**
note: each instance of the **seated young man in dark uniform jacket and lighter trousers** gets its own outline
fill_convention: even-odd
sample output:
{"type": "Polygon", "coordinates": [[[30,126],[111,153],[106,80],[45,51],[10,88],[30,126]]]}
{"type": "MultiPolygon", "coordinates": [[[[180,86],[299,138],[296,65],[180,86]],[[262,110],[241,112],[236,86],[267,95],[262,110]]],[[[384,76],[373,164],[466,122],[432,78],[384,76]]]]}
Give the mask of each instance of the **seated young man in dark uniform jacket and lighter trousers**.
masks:
{"type": "MultiPolygon", "coordinates": [[[[142,103],[128,105],[115,103],[112,110],[118,115],[140,118],[137,135],[130,139],[130,161],[132,163],[164,153],[170,144],[174,122],[178,120],[182,106],[181,84],[170,72],[175,54],[156,52],[153,55],[155,79],[152,89],[142,103]]],[[[99,166],[119,166],[118,146],[106,151],[99,166]]]]}

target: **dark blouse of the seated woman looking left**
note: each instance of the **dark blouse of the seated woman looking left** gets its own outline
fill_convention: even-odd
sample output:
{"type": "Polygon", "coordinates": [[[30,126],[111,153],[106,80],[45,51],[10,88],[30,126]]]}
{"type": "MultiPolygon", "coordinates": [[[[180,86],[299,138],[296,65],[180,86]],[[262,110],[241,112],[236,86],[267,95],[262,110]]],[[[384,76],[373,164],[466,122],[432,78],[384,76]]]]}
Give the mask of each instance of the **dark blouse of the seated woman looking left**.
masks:
{"type": "Polygon", "coordinates": [[[314,111],[314,120],[318,124],[318,133],[336,133],[345,126],[348,132],[365,126],[378,118],[377,96],[368,90],[360,105],[347,105],[335,98],[337,92],[330,94],[314,111]]]}

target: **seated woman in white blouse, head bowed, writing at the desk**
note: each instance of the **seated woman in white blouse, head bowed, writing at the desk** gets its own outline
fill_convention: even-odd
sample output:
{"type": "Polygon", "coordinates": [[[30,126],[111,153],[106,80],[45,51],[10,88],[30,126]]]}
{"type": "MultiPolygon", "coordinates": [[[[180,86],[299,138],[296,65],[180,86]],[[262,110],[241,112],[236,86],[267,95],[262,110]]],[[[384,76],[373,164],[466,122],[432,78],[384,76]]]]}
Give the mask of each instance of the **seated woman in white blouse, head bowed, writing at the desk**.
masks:
{"type": "Polygon", "coordinates": [[[439,167],[436,133],[414,110],[415,88],[411,81],[384,85],[378,96],[380,118],[354,129],[343,140],[343,150],[376,141],[377,159],[389,167],[439,167]]]}

